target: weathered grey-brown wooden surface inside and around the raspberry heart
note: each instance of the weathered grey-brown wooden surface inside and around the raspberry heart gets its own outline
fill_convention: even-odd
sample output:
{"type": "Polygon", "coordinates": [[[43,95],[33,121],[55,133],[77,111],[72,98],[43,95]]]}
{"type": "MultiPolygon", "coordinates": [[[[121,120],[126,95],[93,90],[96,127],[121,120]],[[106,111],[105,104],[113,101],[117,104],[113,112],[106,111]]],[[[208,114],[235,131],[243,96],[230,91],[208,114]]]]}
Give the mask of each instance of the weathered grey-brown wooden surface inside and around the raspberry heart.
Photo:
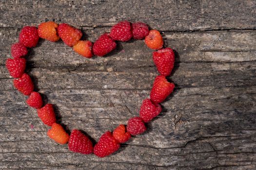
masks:
{"type": "MultiPolygon", "coordinates": [[[[138,116],[158,75],[143,41],[87,59],[40,40],[26,72],[59,122],[98,140],[138,116]]],[[[255,0],[0,0],[0,169],[256,170],[255,0]],[[148,131],[108,157],[72,153],[46,135],[5,68],[25,25],[69,23],[95,41],[118,21],[143,21],[176,51],[176,88],[148,131]]]]}

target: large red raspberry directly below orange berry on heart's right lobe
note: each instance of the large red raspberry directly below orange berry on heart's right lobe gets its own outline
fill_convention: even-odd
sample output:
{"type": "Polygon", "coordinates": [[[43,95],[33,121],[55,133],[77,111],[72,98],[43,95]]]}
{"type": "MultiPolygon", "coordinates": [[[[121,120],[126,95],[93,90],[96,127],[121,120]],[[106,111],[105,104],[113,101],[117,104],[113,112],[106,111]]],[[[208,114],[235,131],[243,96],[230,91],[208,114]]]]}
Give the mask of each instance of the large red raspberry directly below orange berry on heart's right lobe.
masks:
{"type": "Polygon", "coordinates": [[[153,60],[161,75],[169,76],[171,74],[174,67],[174,52],[171,48],[153,52],[153,60]]]}

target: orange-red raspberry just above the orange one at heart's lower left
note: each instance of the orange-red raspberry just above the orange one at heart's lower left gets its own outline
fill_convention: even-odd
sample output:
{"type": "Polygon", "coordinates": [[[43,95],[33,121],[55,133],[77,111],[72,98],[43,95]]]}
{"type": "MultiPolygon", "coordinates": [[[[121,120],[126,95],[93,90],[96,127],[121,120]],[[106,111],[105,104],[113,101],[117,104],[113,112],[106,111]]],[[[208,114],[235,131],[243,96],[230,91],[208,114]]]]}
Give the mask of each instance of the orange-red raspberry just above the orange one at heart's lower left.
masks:
{"type": "Polygon", "coordinates": [[[53,109],[53,105],[47,103],[42,108],[38,109],[38,117],[42,122],[48,126],[52,126],[56,122],[56,117],[53,109]]]}

